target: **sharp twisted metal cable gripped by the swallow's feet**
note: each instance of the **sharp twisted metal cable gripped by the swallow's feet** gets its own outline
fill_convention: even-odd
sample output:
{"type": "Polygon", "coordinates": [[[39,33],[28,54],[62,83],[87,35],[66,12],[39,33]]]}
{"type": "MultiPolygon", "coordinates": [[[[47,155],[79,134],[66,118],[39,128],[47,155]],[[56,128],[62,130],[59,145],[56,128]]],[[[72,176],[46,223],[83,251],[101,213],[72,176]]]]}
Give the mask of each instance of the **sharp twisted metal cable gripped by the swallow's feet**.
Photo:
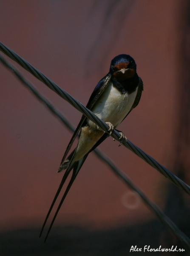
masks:
{"type": "MultiPolygon", "coordinates": [[[[6,47],[3,43],[0,42],[0,50],[5,53],[8,57],[10,57],[12,60],[16,61],[18,64],[20,64],[21,67],[26,69],[28,72],[30,72],[32,75],[34,75],[37,79],[42,81],[45,85],[47,85],[51,90],[56,92],[59,96],[61,96],[63,99],[65,99],[67,102],[69,102],[74,108],[76,108],[78,111],[83,113],[88,119],[90,119],[92,122],[94,122],[96,125],[98,125],[100,128],[102,128],[103,131],[106,133],[110,133],[108,125],[103,122],[101,119],[99,119],[94,113],[92,113],[89,109],[85,108],[84,105],[82,105],[79,101],[74,99],[70,94],[68,94],[65,90],[60,88],[57,84],[55,84],[51,79],[48,79],[43,73],[41,73],[39,70],[37,70],[35,67],[33,67],[31,64],[29,64],[27,61],[25,61],[23,58],[21,58],[17,53],[13,52],[11,49],[6,47]]],[[[117,131],[113,131],[111,134],[111,137],[113,137],[115,140],[121,142],[119,138],[121,137],[120,134],[117,131]]],[[[184,181],[176,177],[172,172],[167,170],[164,166],[162,166],[160,163],[158,163],[156,160],[154,160],[152,157],[150,157],[148,154],[146,154],[144,151],[142,151],[140,148],[138,148],[136,145],[134,145],[129,140],[124,141],[122,143],[126,148],[130,149],[134,154],[142,158],[146,163],[148,163],[150,166],[152,166],[154,169],[159,171],[162,175],[167,177],[172,183],[174,183],[176,186],[178,186],[180,189],[184,190],[187,194],[190,195],[190,186],[188,186],[184,181]]]]}

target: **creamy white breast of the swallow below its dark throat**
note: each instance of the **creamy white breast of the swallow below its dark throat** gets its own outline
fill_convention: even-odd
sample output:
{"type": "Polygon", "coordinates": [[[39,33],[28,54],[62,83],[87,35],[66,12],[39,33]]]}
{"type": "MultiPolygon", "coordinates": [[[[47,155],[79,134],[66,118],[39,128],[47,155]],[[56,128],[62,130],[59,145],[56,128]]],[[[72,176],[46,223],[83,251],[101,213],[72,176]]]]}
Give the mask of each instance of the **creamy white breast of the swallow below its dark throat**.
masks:
{"type": "MultiPolygon", "coordinates": [[[[136,98],[136,93],[137,88],[131,94],[122,94],[110,82],[91,111],[104,122],[111,122],[116,128],[130,111],[136,98]]],[[[90,120],[88,120],[88,123],[94,128],[96,127],[90,120]]]]}

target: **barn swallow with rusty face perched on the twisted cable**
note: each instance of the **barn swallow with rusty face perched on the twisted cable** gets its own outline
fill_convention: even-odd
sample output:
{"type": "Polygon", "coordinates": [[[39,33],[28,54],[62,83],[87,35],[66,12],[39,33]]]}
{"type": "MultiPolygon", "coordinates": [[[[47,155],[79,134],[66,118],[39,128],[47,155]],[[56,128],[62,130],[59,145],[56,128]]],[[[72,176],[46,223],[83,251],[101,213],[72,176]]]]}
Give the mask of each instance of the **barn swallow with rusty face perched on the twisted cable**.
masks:
{"type": "MultiPolygon", "coordinates": [[[[109,125],[109,130],[111,130],[110,134],[102,131],[101,128],[99,128],[94,122],[86,118],[84,115],[82,116],[82,119],[80,120],[79,125],[77,126],[62,158],[58,172],[62,172],[65,169],[66,171],[45,218],[40,236],[43,232],[43,228],[54,206],[54,203],[57,200],[62,186],[71,170],[73,169],[71,180],[68,183],[62,200],[60,201],[48,233],[50,232],[57,213],[59,212],[60,207],[88,154],[107,137],[109,137],[113,131],[113,128],[116,128],[125,119],[125,117],[128,116],[130,111],[132,111],[133,108],[139,104],[142,90],[143,82],[136,73],[136,63],[134,59],[130,57],[130,55],[126,54],[120,54],[113,58],[109,73],[96,85],[86,105],[86,108],[91,110],[94,114],[96,114],[96,116],[109,125]],[[70,150],[78,133],[79,140],[77,147],[66,158],[68,151],[70,150]]],[[[121,132],[120,134],[123,138],[122,140],[127,139],[121,132]]],[[[48,233],[45,240],[48,237],[48,233]]]]}

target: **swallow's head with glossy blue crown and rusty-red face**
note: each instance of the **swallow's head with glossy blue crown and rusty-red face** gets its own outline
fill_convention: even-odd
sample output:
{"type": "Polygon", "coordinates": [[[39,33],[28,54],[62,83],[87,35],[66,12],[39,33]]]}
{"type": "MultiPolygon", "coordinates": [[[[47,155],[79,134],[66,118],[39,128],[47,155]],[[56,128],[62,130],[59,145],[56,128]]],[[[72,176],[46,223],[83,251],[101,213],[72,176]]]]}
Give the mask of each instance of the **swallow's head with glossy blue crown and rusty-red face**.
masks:
{"type": "Polygon", "coordinates": [[[111,61],[110,73],[119,81],[130,79],[136,73],[136,63],[130,55],[120,54],[111,61]]]}

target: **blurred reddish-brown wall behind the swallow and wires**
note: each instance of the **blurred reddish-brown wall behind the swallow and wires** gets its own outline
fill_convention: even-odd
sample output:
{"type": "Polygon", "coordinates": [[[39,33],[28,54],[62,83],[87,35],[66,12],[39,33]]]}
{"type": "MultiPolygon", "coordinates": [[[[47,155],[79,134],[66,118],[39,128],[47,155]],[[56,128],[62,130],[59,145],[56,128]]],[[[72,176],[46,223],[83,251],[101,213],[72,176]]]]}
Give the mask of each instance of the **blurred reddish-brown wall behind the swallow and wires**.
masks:
{"type": "MultiPolygon", "coordinates": [[[[107,23],[103,22],[110,2],[94,2],[0,1],[0,40],[83,104],[108,73],[111,59],[121,53],[130,54],[144,82],[144,92],[139,106],[119,129],[170,167],[179,1],[135,1],[129,10],[125,1],[119,1],[121,6],[115,7],[107,23]],[[114,27],[119,8],[126,8],[126,15],[114,27]],[[104,38],[92,49],[102,29],[107,29],[109,36],[114,35],[115,29],[118,33],[113,38],[103,34],[104,38]]],[[[79,112],[22,72],[77,125],[79,112]]],[[[38,226],[43,223],[62,178],[57,169],[71,133],[1,64],[0,84],[0,229],[38,226]]],[[[111,138],[100,148],[163,207],[167,181],[162,175],[126,148],[118,148],[111,138]]],[[[135,209],[124,206],[128,192],[121,180],[91,154],[55,225],[74,223],[102,228],[153,218],[142,203],[135,209]]]]}

